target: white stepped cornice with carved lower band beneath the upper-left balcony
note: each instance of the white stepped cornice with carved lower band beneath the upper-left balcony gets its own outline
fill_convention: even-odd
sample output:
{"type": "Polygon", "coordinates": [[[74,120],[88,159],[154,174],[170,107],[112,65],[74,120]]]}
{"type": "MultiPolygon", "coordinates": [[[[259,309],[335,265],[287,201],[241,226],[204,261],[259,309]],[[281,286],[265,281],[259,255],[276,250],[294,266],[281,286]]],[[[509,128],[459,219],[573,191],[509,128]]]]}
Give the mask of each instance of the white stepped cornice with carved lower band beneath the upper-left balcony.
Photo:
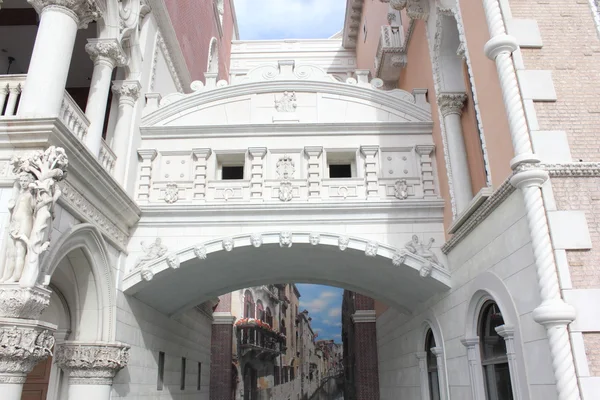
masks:
{"type": "MultiPolygon", "coordinates": [[[[64,148],[70,164],[67,178],[60,184],[63,195],[58,203],[78,219],[97,226],[110,243],[125,250],[129,229],[139,220],[141,210],[87,147],[56,118],[0,120],[0,148],[51,145],[64,148]],[[106,221],[104,226],[102,220],[106,221]]],[[[12,185],[14,178],[8,176],[8,171],[4,177],[12,185]]]]}

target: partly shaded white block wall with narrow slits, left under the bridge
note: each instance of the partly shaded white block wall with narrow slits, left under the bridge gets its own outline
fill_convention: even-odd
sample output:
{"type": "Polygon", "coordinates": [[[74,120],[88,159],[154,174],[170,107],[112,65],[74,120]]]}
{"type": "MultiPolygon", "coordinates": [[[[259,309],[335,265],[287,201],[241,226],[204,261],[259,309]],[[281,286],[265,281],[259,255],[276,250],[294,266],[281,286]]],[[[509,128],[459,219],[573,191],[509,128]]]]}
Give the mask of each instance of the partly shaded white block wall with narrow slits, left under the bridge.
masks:
{"type": "Polygon", "coordinates": [[[112,398],[208,400],[211,323],[210,317],[195,309],[170,318],[119,292],[116,340],[131,345],[131,359],[115,377],[112,398]],[[161,391],[157,390],[160,351],[165,353],[161,391]],[[182,357],[186,358],[185,390],[180,387],[182,357]]]}

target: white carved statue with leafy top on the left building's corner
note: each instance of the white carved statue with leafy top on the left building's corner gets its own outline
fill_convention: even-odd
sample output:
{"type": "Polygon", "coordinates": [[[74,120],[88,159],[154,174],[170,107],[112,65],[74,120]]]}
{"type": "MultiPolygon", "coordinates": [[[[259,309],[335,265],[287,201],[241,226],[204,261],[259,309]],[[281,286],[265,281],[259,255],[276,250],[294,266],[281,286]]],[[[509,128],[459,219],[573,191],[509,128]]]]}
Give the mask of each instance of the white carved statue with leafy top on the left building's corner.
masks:
{"type": "Polygon", "coordinates": [[[40,254],[50,246],[54,205],[61,195],[57,182],[69,165],[64,149],[51,146],[11,160],[15,194],[9,202],[10,227],[1,282],[19,282],[32,288],[38,283],[40,254]]]}

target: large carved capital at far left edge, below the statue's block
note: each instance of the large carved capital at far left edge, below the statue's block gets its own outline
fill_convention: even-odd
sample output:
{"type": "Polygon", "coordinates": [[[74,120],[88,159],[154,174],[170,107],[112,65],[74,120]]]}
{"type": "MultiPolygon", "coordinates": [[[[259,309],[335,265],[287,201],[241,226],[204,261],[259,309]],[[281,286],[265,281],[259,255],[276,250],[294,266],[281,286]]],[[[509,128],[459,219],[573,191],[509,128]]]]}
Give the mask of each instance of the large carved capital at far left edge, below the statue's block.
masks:
{"type": "Polygon", "coordinates": [[[24,383],[33,367],[52,355],[54,346],[49,326],[13,321],[0,327],[0,384],[24,383]]]}

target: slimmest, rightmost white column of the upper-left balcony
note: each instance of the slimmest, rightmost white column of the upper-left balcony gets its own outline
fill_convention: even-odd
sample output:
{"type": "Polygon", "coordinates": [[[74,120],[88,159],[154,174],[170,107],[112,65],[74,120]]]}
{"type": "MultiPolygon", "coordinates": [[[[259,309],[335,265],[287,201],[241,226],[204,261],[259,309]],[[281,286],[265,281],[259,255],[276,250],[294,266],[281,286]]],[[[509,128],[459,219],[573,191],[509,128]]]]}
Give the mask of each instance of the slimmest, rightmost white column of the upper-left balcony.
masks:
{"type": "Polygon", "coordinates": [[[123,183],[125,181],[127,160],[129,159],[133,108],[140,96],[142,86],[138,81],[133,80],[115,81],[112,89],[119,101],[119,115],[112,140],[112,150],[117,155],[114,177],[117,181],[123,183]]]}

